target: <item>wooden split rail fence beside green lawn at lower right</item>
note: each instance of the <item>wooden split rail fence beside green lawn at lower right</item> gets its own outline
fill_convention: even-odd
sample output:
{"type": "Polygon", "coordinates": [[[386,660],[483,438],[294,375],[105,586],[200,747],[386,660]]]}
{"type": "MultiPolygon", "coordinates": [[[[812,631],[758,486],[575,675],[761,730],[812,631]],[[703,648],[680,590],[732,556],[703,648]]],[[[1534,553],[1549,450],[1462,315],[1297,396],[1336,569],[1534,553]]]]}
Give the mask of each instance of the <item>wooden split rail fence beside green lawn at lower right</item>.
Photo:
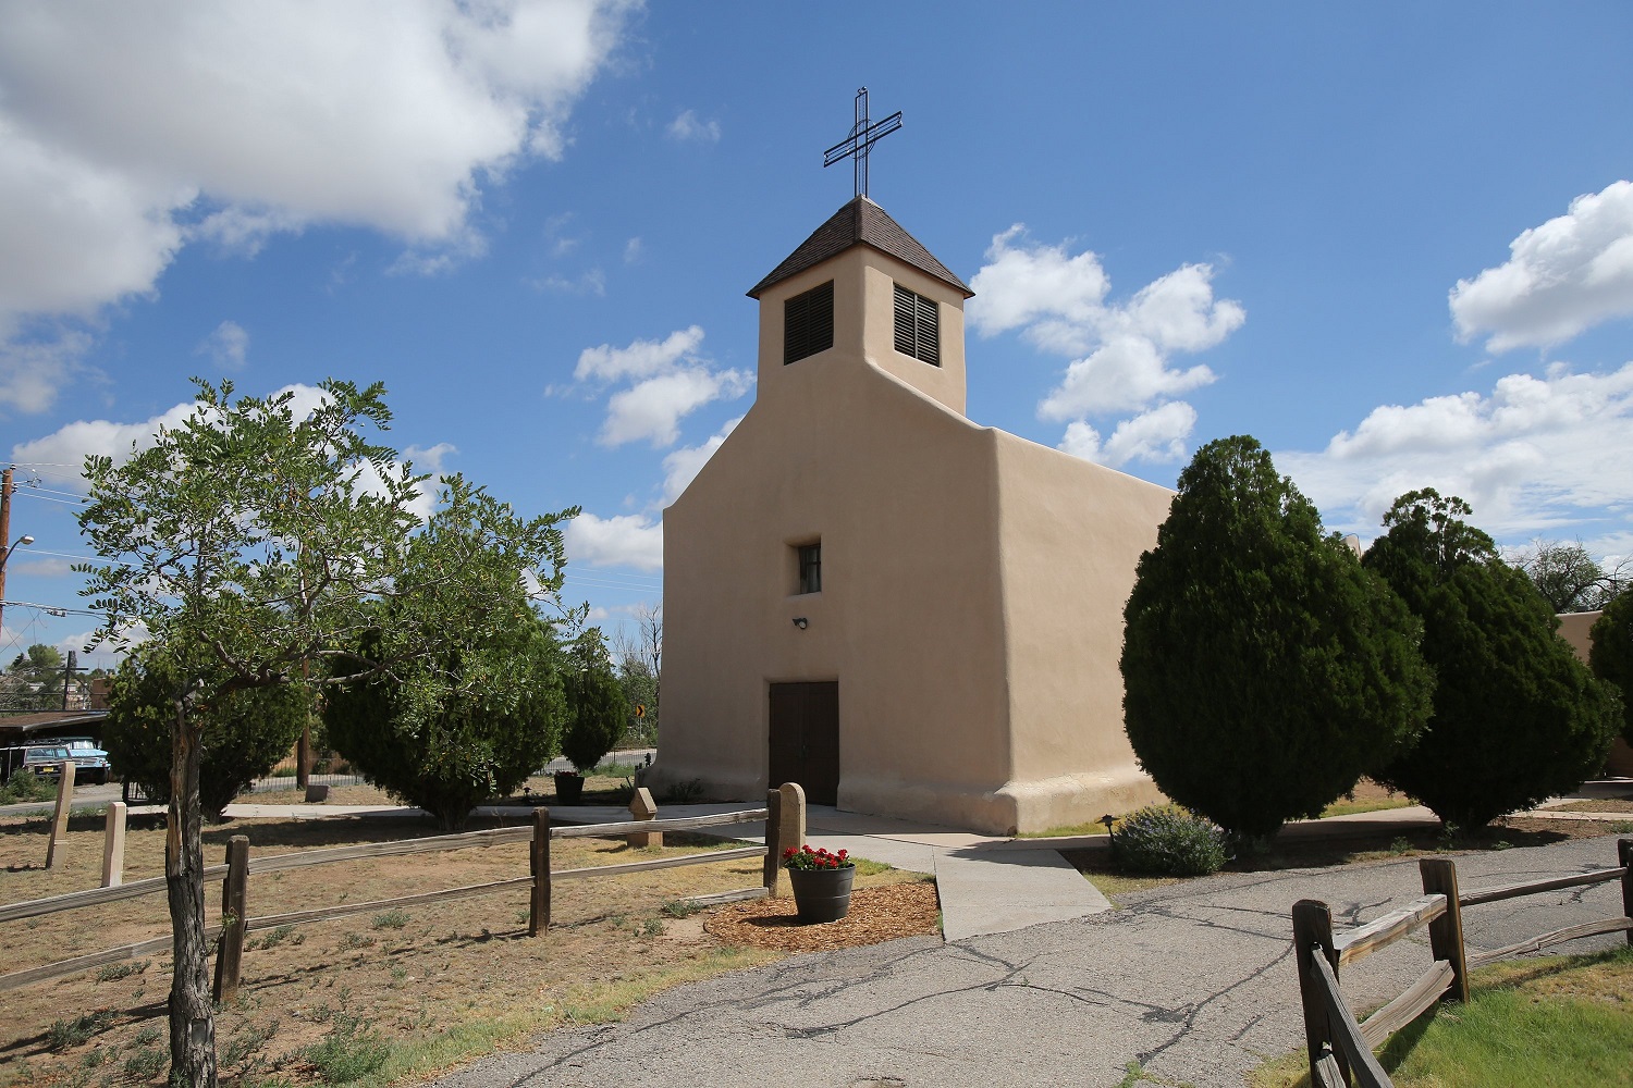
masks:
{"type": "Polygon", "coordinates": [[[1613,869],[1594,869],[1545,881],[1525,881],[1457,891],[1457,865],[1448,858],[1422,858],[1422,899],[1406,904],[1367,925],[1333,931],[1333,910],[1316,899],[1293,904],[1293,953],[1298,958],[1298,993],[1305,1011],[1305,1046],[1310,1052],[1313,1088],[1393,1088],[1373,1050],[1440,1000],[1468,1000],[1468,972],[1473,967],[1540,953],[1563,941],[1600,933],[1625,931],[1633,944],[1633,838],[1617,842],[1613,869]],[[1463,907],[1535,896],[1561,887],[1622,881],[1622,917],[1569,925],[1533,938],[1470,956],[1463,944],[1463,907]],[[1365,1021],[1357,1023],[1339,990],[1339,971],[1372,953],[1429,927],[1434,962],[1416,982],[1365,1021]]]}

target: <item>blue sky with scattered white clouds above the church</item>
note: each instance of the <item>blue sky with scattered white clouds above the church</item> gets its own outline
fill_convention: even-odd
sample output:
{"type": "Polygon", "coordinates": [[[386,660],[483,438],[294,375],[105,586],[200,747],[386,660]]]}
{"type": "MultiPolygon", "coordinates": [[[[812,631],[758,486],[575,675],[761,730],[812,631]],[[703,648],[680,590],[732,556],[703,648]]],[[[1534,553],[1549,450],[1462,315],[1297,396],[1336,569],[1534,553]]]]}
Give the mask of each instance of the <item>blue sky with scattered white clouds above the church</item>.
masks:
{"type": "Polygon", "coordinates": [[[382,380],[418,470],[583,509],[568,604],[658,604],[861,86],[872,199],[977,292],[973,421],[1633,555],[1630,47],[1609,2],[0,0],[0,657],[85,646],[83,458],[194,375],[382,380]]]}

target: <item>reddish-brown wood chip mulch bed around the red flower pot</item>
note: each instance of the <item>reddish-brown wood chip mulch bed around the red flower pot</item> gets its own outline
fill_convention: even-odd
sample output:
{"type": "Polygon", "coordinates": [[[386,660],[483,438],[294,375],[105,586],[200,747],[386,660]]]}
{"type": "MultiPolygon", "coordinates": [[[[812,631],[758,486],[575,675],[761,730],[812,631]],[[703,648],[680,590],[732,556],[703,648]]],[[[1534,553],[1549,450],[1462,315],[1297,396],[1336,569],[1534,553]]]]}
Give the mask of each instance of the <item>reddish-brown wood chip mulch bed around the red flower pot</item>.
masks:
{"type": "Polygon", "coordinates": [[[838,922],[800,925],[794,899],[751,899],[722,907],[704,923],[715,940],[784,953],[826,953],[877,944],[898,936],[937,933],[931,882],[864,887],[851,894],[851,913],[838,922]]]}

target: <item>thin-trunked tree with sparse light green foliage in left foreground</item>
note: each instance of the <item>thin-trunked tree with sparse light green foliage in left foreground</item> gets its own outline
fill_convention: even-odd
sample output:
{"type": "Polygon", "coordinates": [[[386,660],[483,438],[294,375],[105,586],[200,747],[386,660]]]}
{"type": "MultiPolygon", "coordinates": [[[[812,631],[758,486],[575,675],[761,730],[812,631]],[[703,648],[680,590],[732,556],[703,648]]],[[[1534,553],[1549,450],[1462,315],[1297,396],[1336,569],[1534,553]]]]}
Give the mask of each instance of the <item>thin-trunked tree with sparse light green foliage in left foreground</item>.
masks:
{"type": "MultiPolygon", "coordinates": [[[[149,449],[122,463],[87,458],[80,530],[105,563],[78,569],[105,613],[98,638],[129,648],[145,628],[147,664],[171,683],[170,1077],[214,1088],[198,711],[234,692],[302,683],[305,662],[315,666],[310,682],[323,683],[328,659],[354,656],[376,625],[376,602],[407,592],[395,579],[418,527],[410,502],[420,478],[364,437],[390,421],[379,383],[327,380],[299,418],[292,393],[234,400],[227,382],[196,385],[194,411],[149,449]]],[[[495,535],[490,545],[514,569],[547,556],[541,535],[495,535]]],[[[436,652],[444,636],[431,610],[408,610],[367,664],[384,672],[436,652]]]]}

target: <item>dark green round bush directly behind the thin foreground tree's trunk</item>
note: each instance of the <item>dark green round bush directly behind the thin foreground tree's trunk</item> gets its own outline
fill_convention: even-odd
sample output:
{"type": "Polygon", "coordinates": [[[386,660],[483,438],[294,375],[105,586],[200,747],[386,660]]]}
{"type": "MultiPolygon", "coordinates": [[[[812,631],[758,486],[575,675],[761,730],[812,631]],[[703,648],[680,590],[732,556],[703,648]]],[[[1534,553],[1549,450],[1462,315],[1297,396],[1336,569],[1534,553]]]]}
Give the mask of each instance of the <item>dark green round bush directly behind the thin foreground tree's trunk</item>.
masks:
{"type": "MultiPolygon", "coordinates": [[[[158,804],[170,803],[170,731],[175,679],[163,654],[144,646],[124,659],[108,692],[103,745],[126,781],[158,804]],[[147,664],[147,659],[154,664],[147,664]]],[[[202,757],[199,809],[216,822],[235,796],[266,775],[300,736],[312,706],[297,685],[237,688],[209,706],[196,706],[202,757]]]]}

